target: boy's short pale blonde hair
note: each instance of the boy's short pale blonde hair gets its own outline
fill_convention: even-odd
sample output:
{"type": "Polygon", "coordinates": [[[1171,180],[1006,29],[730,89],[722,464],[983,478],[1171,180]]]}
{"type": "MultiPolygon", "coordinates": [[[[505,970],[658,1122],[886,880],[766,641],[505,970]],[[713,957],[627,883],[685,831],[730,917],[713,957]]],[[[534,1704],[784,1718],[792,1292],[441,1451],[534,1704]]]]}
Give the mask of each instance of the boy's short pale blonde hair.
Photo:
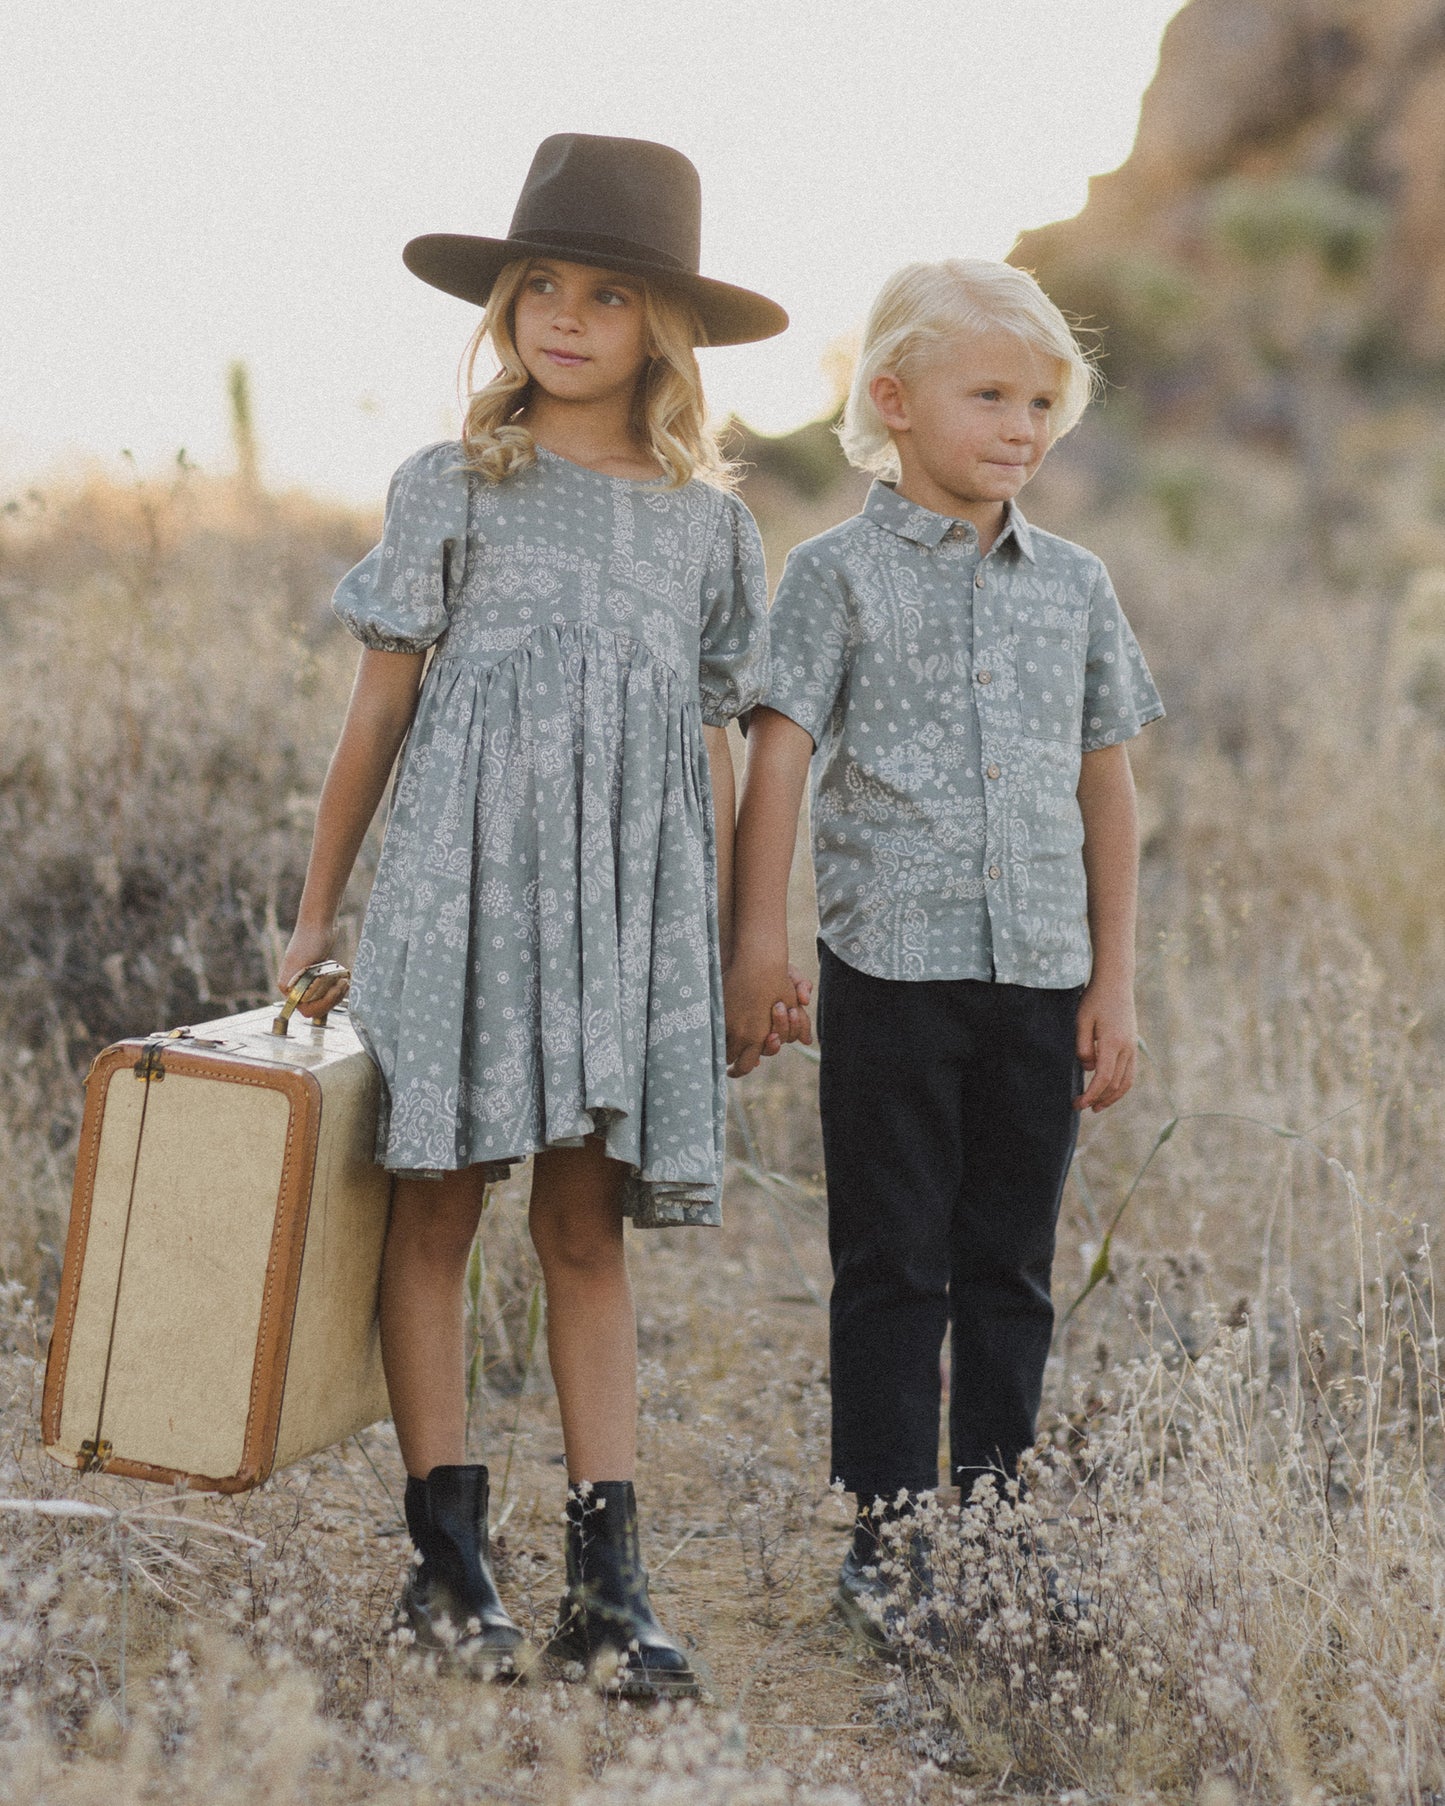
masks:
{"type": "Polygon", "coordinates": [[[900,475],[898,448],[869,388],[876,376],[907,376],[932,349],[972,332],[1004,330],[1055,358],[1062,370],[1049,444],[1075,428],[1098,374],[1069,321],[1026,269],[984,258],[905,264],[883,284],[863,327],[838,437],[849,462],[880,477],[900,475]]]}

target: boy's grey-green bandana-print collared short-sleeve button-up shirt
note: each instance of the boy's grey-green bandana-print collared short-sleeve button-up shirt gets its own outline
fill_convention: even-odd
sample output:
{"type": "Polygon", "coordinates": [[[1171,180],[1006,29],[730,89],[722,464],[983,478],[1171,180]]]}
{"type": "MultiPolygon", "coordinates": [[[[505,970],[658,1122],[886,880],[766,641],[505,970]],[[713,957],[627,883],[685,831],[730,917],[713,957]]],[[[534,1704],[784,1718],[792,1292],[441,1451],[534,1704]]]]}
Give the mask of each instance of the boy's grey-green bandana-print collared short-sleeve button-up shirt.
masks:
{"type": "Polygon", "coordinates": [[[1086,751],[1163,715],[1102,562],[1010,506],[972,524],[876,482],[798,545],[768,706],[815,744],[824,941],[883,979],[1089,977],[1086,751]]]}

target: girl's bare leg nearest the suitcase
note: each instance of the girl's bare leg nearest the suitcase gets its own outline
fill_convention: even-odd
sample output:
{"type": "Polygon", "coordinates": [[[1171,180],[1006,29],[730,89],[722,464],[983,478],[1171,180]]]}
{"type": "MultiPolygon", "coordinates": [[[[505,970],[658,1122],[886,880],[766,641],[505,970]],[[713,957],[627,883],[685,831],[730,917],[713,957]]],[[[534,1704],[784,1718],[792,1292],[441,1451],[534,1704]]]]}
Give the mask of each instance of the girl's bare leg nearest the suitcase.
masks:
{"type": "Polygon", "coordinates": [[[415,1479],[466,1461],[462,1286],[486,1185],[479,1167],[397,1179],[381,1261],[381,1364],[415,1479]]]}

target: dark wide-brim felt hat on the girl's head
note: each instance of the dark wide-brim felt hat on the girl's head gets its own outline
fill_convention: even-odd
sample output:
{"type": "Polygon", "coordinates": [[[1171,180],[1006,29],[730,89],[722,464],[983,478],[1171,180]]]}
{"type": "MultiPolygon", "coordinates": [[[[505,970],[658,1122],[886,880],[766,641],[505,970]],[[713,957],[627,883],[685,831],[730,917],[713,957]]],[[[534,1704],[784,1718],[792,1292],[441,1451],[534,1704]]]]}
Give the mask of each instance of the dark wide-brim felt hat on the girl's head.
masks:
{"type": "Polygon", "coordinates": [[[484,305],[502,269],[522,256],[555,256],[647,276],[685,294],[703,323],[701,343],[773,338],[788,314],[766,294],[699,273],[703,184],[668,144],[641,137],[558,132],[538,144],[506,238],[434,231],[401,256],[412,275],[484,305]]]}

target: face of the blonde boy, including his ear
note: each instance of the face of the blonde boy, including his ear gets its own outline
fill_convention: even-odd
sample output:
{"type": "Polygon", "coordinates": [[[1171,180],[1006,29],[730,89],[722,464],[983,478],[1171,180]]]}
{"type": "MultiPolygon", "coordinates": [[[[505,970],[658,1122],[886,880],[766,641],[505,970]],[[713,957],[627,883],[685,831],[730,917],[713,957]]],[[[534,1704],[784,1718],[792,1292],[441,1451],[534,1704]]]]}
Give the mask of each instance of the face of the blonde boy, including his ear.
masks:
{"type": "Polygon", "coordinates": [[[1062,368],[1012,332],[950,340],[872,401],[898,446],[900,495],[941,515],[990,520],[1044,462],[1062,368]]]}

